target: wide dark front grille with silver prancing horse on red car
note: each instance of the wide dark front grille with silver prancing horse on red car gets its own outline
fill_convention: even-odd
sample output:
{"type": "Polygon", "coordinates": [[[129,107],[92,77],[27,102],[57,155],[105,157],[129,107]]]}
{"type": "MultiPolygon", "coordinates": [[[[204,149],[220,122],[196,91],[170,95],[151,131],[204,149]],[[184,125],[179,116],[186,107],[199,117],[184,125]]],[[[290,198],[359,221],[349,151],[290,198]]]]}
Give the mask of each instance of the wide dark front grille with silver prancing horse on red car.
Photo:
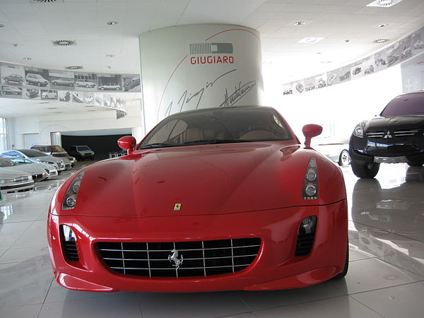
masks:
{"type": "Polygon", "coordinates": [[[196,242],[99,242],[100,257],[117,273],[146,277],[190,277],[235,273],[257,257],[261,239],[196,242]],[[177,249],[177,253],[172,250],[177,249]],[[175,254],[177,269],[168,257],[175,254]]]}

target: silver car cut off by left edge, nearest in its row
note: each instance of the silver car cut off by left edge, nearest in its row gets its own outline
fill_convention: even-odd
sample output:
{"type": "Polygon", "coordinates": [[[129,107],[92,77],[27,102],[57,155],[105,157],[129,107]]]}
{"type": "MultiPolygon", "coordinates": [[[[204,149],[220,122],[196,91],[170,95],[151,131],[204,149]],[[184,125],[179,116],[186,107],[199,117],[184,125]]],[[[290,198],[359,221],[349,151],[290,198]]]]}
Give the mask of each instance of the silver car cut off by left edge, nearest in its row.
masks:
{"type": "Polygon", "coordinates": [[[34,189],[34,180],[29,173],[0,169],[1,195],[15,192],[28,192],[34,189]]]}

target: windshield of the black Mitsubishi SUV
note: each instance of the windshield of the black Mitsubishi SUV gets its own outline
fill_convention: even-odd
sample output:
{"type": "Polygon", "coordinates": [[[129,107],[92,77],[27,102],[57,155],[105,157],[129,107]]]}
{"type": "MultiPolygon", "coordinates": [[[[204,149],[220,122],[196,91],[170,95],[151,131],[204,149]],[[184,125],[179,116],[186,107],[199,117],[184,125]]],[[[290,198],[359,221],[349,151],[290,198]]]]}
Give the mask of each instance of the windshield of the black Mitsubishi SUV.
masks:
{"type": "Polygon", "coordinates": [[[394,98],[384,107],[382,117],[424,114],[424,94],[414,93],[394,98]]]}

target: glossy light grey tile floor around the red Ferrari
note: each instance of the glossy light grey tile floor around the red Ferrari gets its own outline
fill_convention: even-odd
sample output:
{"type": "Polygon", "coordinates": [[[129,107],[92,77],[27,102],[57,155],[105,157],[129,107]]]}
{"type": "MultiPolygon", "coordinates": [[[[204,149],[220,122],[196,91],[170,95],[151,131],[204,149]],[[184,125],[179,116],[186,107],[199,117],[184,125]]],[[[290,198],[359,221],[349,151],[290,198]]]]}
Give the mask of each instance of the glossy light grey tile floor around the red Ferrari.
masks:
{"type": "Polygon", "coordinates": [[[53,281],[47,206],[71,172],[0,202],[0,317],[424,317],[424,167],[343,168],[346,278],[310,288],[223,293],[85,293],[53,281]]]}

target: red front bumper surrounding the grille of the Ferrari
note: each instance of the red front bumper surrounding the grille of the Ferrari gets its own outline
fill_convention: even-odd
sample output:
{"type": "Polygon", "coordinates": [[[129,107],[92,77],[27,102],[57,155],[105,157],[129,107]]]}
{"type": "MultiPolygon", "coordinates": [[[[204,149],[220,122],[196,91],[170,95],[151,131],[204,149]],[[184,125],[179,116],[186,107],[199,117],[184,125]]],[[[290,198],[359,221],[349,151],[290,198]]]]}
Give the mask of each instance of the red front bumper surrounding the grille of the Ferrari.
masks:
{"type": "MultiPolygon", "coordinates": [[[[343,270],[348,244],[347,203],[300,206],[219,216],[102,218],[49,213],[48,242],[57,282],[69,289],[111,292],[273,290],[322,283],[343,270]],[[312,251],[295,257],[298,228],[317,216],[312,251]],[[66,261],[59,225],[76,233],[79,261],[66,261]],[[236,273],[184,278],[148,278],[114,273],[100,259],[97,242],[183,242],[260,237],[252,264],[236,273]]],[[[170,265],[171,266],[171,265],[170,265]]]]}

